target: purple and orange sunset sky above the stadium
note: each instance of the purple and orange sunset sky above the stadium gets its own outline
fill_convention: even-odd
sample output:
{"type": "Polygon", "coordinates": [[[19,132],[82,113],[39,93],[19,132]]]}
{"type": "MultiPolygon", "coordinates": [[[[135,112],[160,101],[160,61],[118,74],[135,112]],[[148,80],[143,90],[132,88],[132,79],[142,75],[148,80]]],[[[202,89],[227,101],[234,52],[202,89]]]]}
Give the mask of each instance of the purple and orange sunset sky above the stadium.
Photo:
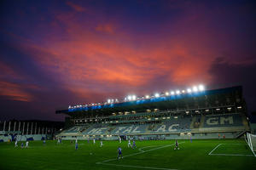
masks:
{"type": "Polygon", "coordinates": [[[0,120],[203,83],[256,111],[255,1],[0,3],[0,120]]]}

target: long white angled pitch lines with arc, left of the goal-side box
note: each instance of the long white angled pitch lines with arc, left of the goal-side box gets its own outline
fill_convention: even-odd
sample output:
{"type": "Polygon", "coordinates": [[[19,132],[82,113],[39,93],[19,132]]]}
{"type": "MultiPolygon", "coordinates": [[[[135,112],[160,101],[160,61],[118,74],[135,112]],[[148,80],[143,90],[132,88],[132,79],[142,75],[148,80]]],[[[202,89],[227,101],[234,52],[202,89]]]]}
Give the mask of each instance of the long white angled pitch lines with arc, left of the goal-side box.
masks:
{"type": "MultiPolygon", "coordinates": [[[[185,142],[181,142],[179,144],[183,144],[183,143],[185,143],[185,142]]],[[[160,150],[162,148],[170,147],[170,146],[173,146],[173,145],[174,144],[168,144],[168,145],[160,146],[158,148],[154,148],[154,149],[146,150],[146,151],[140,150],[140,149],[148,148],[149,147],[149,146],[146,146],[146,147],[140,148],[139,149],[140,152],[137,152],[137,153],[134,153],[134,154],[130,154],[128,156],[123,156],[123,158],[130,157],[130,156],[140,155],[140,154],[143,154],[143,153],[146,153],[146,152],[149,152],[149,151],[153,151],[153,150],[160,150]]],[[[102,164],[102,165],[109,165],[109,166],[118,166],[118,167],[137,167],[137,168],[143,168],[143,169],[177,170],[177,169],[169,169],[169,168],[161,168],[161,167],[140,167],[140,166],[132,166],[132,165],[119,165],[119,164],[114,164],[114,163],[106,163],[108,161],[116,161],[116,158],[115,159],[108,159],[106,161],[98,161],[98,162],[96,162],[96,164],[98,164],[98,165],[100,165],[100,164],[102,164]]]]}

